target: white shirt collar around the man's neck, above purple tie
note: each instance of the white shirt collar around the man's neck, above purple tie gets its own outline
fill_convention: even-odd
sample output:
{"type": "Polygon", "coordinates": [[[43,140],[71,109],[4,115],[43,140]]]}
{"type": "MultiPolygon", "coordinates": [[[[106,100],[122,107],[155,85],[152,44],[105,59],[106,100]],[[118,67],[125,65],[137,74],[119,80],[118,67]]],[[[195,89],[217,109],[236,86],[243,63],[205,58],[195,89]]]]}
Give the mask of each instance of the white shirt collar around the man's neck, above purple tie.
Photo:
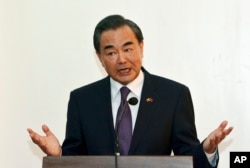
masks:
{"type": "MultiPolygon", "coordinates": [[[[126,87],[130,89],[131,93],[138,99],[140,99],[141,97],[143,81],[144,81],[144,74],[141,70],[139,75],[132,82],[126,85],[126,87]]],[[[110,78],[110,84],[111,84],[111,99],[114,99],[119,94],[121,87],[124,85],[120,84],[119,82],[115,81],[112,78],[110,78]]]]}

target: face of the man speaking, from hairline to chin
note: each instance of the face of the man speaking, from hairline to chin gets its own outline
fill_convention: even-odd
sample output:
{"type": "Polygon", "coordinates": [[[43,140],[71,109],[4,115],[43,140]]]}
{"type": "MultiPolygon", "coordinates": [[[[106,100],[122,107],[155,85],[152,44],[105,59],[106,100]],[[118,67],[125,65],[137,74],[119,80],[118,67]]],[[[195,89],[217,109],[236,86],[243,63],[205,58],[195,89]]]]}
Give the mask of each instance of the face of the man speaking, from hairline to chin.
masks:
{"type": "Polygon", "coordinates": [[[111,78],[127,85],[141,70],[143,42],[138,42],[128,26],[107,30],[101,34],[97,55],[111,78]]]}

